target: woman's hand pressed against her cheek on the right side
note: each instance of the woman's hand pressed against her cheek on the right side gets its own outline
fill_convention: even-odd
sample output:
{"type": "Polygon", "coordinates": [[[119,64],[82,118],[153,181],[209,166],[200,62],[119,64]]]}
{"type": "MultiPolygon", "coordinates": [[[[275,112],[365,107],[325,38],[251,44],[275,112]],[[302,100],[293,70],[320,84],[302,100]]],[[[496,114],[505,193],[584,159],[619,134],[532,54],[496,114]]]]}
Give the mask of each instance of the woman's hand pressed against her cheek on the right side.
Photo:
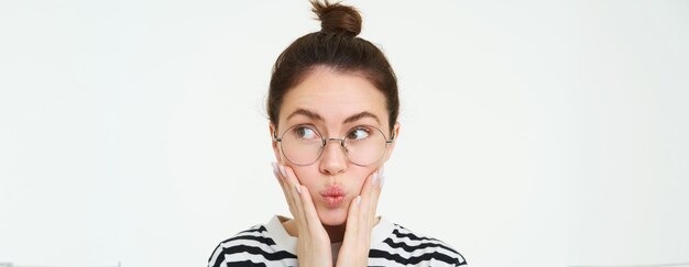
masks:
{"type": "Polygon", "coordinates": [[[383,167],[381,167],[369,176],[361,189],[361,194],[350,203],[344,237],[336,266],[368,266],[371,232],[379,221],[375,218],[375,210],[384,179],[383,167]]]}

